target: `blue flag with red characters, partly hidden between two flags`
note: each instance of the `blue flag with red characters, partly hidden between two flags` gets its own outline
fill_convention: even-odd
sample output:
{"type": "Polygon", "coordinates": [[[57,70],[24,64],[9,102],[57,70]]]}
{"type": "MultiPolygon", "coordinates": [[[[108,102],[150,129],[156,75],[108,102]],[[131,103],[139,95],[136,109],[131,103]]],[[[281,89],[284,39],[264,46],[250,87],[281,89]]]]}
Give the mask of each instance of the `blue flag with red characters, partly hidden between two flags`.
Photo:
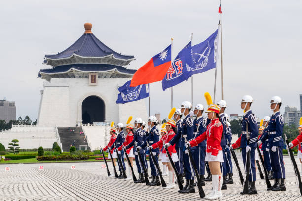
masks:
{"type": "MultiPolygon", "coordinates": [[[[191,42],[189,42],[184,47],[184,49],[187,49],[189,47],[191,47],[191,42]]],[[[177,85],[182,81],[187,80],[189,77],[187,73],[183,72],[182,61],[179,59],[179,56],[177,55],[174,61],[172,62],[172,65],[169,67],[166,76],[161,81],[162,90],[165,91],[167,88],[173,87],[174,85],[177,85]]]]}

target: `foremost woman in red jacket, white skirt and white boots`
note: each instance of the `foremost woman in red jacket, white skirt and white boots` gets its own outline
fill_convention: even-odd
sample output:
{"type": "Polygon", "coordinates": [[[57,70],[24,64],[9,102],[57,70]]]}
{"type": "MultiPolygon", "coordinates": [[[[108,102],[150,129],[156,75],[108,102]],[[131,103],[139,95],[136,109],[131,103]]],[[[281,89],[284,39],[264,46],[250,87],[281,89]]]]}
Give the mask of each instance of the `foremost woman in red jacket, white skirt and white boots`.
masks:
{"type": "Polygon", "coordinates": [[[197,146],[203,140],[207,140],[205,161],[209,162],[210,171],[212,173],[212,192],[206,196],[206,199],[212,200],[222,198],[221,187],[223,177],[220,169],[220,162],[224,162],[223,151],[220,146],[223,126],[219,120],[220,106],[210,104],[207,110],[208,119],[211,123],[207,126],[207,130],[197,138],[186,143],[189,147],[197,146]]]}

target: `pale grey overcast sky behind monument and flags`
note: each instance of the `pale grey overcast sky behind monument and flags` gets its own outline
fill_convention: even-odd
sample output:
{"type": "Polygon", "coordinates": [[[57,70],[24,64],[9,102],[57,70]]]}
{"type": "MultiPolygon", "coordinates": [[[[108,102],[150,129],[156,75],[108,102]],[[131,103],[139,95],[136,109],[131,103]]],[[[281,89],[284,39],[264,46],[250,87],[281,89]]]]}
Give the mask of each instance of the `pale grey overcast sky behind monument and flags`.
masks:
{"type": "MultiPolygon", "coordinates": [[[[1,0],[0,99],[16,101],[17,117],[38,117],[40,90],[37,79],[45,54],[61,52],[93,24],[92,32],[107,46],[136,60],[138,69],[174,38],[173,57],[190,40],[206,39],[219,20],[218,0],[1,0]]],[[[270,98],[299,106],[302,94],[302,1],[223,0],[224,99],[228,114],[242,114],[239,102],[251,95],[253,112],[271,115],[270,98]]],[[[221,99],[220,67],[217,99],[221,99]]],[[[206,105],[204,93],[214,91],[214,72],[193,76],[194,99],[206,105]]],[[[174,105],[191,101],[190,79],[173,87],[174,105]]],[[[166,117],[171,108],[170,89],[151,84],[151,114],[166,117]]],[[[112,104],[115,104],[113,102],[112,104]]],[[[148,105],[147,105],[148,108],[148,105]]],[[[284,107],[283,110],[284,111],[284,107]]],[[[108,120],[110,121],[110,120],[108,120]]]]}

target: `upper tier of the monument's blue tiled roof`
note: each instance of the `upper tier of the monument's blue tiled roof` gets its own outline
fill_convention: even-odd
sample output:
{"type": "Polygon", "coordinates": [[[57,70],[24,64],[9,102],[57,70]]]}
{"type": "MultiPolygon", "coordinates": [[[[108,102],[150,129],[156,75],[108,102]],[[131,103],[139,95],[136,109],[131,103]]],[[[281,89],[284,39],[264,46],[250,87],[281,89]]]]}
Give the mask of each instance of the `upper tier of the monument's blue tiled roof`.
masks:
{"type": "Polygon", "coordinates": [[[134,56],[121,55],[104,43],[102,43],[97,37],[92,33],[83,34],[74,44],[69,48],[60,52],[56,55],[45,55],[45,59],[63,59],[72,56],[73,54],[82,57],[104,57],[113,54],[117,59],[129,60],[133,59],[134,56]]]}

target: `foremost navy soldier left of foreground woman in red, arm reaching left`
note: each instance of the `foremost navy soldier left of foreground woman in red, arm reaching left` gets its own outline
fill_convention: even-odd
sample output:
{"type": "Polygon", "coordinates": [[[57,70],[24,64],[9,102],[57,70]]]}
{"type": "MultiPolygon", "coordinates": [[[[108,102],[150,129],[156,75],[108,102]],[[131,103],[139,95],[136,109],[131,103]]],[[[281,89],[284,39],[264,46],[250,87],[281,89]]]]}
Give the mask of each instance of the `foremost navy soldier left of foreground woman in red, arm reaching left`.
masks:
{"type": "MultiPolygon", "coordinates": [[[[185,143],[193,138],[193,120],[189,114],[192,109],[192,104],[188,101],[184,101],[181,104],[181,114],[185,115],[185,118],[182,122],[181,132],[178,132],[169,143],[165,144],[166,147],[174,145],[179,139],[181,139],[181,149],[183,153],[183,160],[186,171],[186,185],[182,190],[179,190],[179,193],[195,193],[194,188],[194,177],[192,172],[192,167],[189,162],[189,154],[186,152],[185,143]]],[[[194,150],[191,150],[192,154],[194,150]]]]}

